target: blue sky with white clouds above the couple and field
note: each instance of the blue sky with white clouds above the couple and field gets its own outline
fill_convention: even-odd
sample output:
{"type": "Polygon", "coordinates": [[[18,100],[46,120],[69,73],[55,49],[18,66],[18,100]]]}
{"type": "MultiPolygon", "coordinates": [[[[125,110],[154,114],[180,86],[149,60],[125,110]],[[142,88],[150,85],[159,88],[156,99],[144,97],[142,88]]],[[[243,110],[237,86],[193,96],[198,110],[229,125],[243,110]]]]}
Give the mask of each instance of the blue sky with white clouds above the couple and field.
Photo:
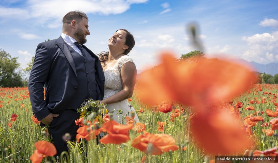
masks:
{"type": "Polygon", "coordinates": [[[278,63],[278,3],[267,0],[0,0],[0,48],[26,67],[40,42],[60,36],[62,17],[72,10],[88,15],[85,45],[95,53],[107,49],[117,29],[129,30],[138,70],[157,64],[160,51],[180,57],[195,50],[186,30],[192,22],[207,56],[278,63]]]}

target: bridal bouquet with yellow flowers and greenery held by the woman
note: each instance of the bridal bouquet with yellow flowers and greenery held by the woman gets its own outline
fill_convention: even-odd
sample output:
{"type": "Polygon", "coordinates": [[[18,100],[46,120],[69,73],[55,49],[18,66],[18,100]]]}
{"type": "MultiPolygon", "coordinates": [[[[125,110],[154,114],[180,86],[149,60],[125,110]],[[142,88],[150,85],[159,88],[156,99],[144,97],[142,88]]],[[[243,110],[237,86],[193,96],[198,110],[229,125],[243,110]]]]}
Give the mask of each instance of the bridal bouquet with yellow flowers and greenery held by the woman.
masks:
{"type": "Polygon", "coordinates": [[[92,98],[85,100],[84,103],[81,104],[80,108],[77,109],[77,112],[80,113],[80,117],[84,117],[84,119],[94,119],[98,120],[98,122],[104,122],[104,115],[108,113],[106,109],[106,105],[104,103],[100,103],[99,101],[94,101],[92,98]]]}

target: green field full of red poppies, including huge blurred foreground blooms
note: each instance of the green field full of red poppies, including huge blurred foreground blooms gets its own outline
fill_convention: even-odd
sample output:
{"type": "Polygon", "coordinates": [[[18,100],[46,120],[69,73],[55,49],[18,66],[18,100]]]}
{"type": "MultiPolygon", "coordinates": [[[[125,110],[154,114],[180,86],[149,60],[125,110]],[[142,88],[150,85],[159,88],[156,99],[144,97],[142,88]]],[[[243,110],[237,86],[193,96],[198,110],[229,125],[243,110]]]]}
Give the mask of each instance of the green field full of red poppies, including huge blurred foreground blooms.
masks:
{"type": "MultiPolygon", "coordinates": [[[[68,142],[70,153],[59,162],[214,162],[215,155],[278,154],[278,85],[251,84],[246,68],[222,60],[177,62],[166,54],[161,62],[140,74],[129,99],[140,123],[132,114],[124,124],[109,114],[103,122],[77,119],[77,141],[68,142]]],[[[32,115],[28,88],[0,88],[0,112],[1,162],[56,162],[47,128],[32,115]]]]}

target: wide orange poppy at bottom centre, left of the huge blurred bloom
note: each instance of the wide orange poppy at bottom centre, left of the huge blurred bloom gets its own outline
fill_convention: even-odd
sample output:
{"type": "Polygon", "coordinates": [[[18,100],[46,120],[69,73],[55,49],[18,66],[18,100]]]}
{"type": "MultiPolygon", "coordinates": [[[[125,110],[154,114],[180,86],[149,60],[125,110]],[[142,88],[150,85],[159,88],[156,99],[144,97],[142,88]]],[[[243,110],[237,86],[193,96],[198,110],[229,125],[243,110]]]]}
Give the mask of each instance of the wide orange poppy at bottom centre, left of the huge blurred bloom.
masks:
{"type": "Polygon", "coordinates": [[[179,149],[175,144],[172,136],[167,134],[150,134],[143,131],[143,135],[137,136],[132,140],[131,145],[146,154],[158,155],[170,150],[175,151],[179,149]],[[150,146],[147,148],[147,146],[150,146]]]}

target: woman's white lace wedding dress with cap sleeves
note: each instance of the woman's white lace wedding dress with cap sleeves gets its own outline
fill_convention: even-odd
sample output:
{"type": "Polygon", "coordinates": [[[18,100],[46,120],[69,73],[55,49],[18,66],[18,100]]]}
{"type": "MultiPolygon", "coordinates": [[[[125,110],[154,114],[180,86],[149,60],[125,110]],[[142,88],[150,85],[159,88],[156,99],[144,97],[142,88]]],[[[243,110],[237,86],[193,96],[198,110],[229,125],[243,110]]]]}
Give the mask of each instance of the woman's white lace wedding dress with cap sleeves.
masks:
{"type": "MultiPolygon", "coordinates": [[[[123,89],[120,72],[121,72],[122,65],[127,62],[134,63],[134,61],[131,59],[130,56],[123,55],[117,60],[117,62],[114,64],[113,67],[108,67],[104,70],[105,83],[104,83],[103,99],[109,98],[110,96],[118,93],[123,89]]],[[[113,113],[114,121],[123,124],[125,124],[126,122],[125,120],[126,114],[129,115],[130,117],[131,111],[135,112],[135,109],[132,106],[130,106],[130,104],[127,102],[127,99],[118,103],[108,104],[107,109],[109,110],[109,112],[112,112],[115,109],[113,113]]],[[[139,122],[136,112],[135,112],[134,120],[136,122],[139,122]]]]}

